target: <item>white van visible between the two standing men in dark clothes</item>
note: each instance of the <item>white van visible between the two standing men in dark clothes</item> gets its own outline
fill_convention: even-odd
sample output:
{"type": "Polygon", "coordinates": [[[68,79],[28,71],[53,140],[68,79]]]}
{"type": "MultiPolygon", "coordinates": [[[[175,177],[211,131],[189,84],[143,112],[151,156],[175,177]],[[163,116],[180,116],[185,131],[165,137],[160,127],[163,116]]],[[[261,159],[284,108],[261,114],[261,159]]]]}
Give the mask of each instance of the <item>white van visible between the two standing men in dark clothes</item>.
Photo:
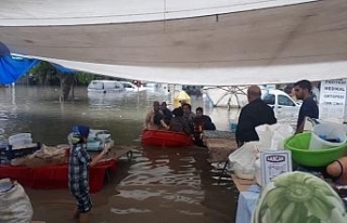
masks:
{"type": "Polygon", "coordinates": [[[301,103],[295,102],[284,91],[277,89],[261,90],[261,99],[274,109],[278,118],[294,119],[293,121],[296,121],[301,103]]]}

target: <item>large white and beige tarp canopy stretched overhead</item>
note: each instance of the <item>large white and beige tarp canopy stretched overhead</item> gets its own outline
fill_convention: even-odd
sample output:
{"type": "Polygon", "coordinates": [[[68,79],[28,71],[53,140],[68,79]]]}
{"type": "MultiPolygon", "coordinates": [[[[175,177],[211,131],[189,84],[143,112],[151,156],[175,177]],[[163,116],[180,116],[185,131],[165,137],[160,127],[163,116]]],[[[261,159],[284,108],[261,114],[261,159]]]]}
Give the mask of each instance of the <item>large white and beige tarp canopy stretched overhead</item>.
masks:
{"type": "Polygon", "coordinates": [[[346,0],[2,0],[0,41],[65,67],[240,86],[346,78],[346,0]]]}

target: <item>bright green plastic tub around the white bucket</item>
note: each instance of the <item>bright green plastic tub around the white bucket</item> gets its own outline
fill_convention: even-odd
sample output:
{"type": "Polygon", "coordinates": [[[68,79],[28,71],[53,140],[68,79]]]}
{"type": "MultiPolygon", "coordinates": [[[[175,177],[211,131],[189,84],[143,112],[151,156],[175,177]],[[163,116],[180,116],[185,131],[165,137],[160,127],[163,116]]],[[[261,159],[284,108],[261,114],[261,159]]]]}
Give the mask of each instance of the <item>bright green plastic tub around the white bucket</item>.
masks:
{"type": "Polygon", "coordinates": [[[324,167],[344,156],[347,143],[340,146],[324,149],[308,149],[311,133],[305,132],[288,137],[284,147],[292,152],[292,159],[308,167],[324,167]]]}

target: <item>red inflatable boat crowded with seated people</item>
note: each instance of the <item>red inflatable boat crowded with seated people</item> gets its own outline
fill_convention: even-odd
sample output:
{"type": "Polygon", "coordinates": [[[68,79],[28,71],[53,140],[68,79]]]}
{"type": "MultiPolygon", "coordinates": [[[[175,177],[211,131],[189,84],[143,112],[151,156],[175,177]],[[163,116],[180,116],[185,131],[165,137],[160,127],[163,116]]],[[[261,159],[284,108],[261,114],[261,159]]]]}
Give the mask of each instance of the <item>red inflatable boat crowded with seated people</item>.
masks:
{"type": "Polygon", "coordinates": [[[193,142],[191,135],[181,132],[171,132],[165,130],[143,130],[142,144],[166,147],[181,147],[190,146],[193,144],[193,142]]]}

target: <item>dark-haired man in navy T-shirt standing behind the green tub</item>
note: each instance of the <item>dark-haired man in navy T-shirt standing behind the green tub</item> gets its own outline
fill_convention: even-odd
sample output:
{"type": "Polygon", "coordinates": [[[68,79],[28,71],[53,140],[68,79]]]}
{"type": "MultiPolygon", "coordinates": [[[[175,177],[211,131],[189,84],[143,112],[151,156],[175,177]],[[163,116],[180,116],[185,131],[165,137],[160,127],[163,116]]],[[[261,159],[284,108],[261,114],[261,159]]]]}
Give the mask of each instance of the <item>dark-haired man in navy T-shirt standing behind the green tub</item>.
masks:
{"type": "Polygon", "coordinates": [[[296,99],[303,100],[303,105],[299,110],[299,116],[296,124],[296,134],[301,133],[305,126],[305,117],[318,118],[319,108],[312,97],[312,86],[308,80],[300,80],[294,83],[296,99]]]}

